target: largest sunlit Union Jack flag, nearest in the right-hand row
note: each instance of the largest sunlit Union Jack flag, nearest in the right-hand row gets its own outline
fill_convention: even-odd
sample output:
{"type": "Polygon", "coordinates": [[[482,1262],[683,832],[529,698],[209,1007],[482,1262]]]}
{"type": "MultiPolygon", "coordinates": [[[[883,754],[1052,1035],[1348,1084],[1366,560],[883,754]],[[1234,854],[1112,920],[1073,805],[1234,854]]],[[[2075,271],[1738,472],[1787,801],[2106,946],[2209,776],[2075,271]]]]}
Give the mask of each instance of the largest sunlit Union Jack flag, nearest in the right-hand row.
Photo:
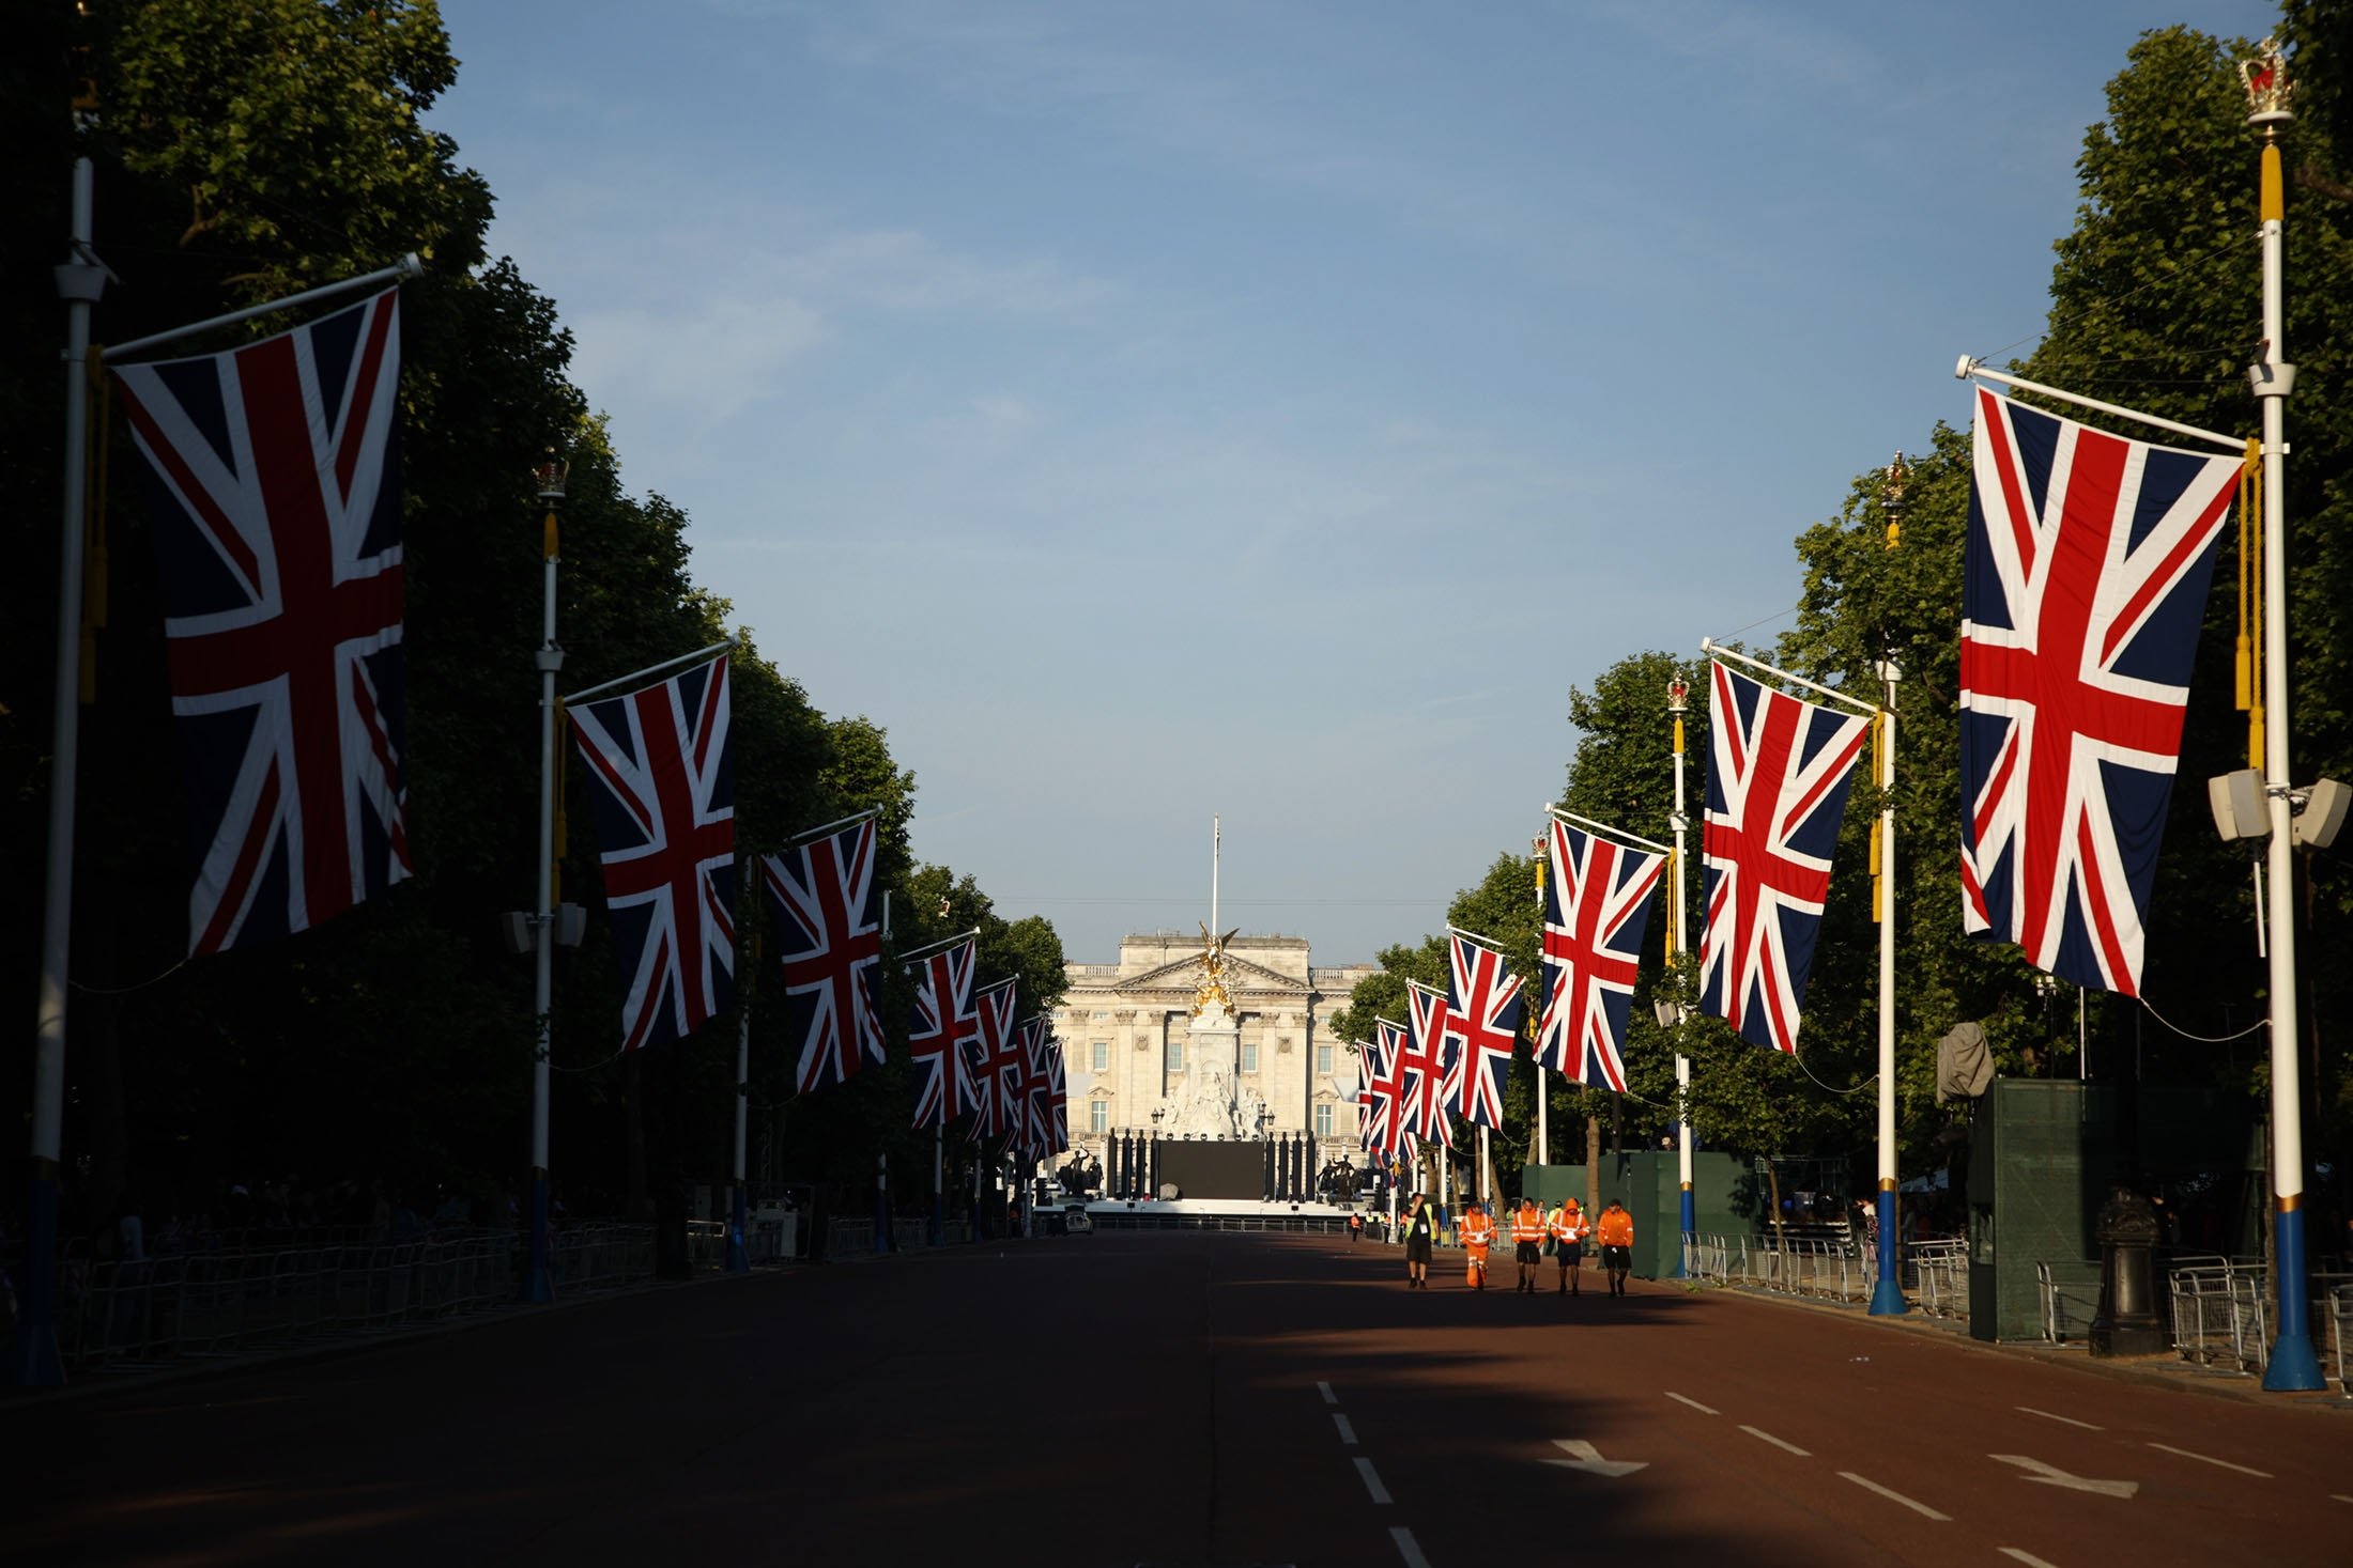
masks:
{"type": "Polygon", "coordinates": [[[2207,581],[2240,458],[1979,388],[1960,623],[1960,917],[2139,994],[2207,581]]]}

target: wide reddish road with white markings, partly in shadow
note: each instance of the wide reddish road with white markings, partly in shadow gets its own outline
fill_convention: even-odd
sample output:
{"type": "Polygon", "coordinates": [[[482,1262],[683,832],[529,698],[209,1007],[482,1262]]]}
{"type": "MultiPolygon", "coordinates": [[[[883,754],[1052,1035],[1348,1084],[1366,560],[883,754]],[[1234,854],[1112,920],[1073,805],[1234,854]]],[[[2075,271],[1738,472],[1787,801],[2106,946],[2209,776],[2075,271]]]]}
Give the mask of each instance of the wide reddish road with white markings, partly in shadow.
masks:
{"type": "Polygon", "coordinates": [[[1405,1291],[1398,1258],[1016,1241],[19,1396],[0,1556],[2353,1561],[2341,1410],[1675,1286],[1609,1300],[1595,1269],[1577,1300],[1513,1293],[1508,1262],[1471,1293],[1440,1253],[1405,1291]],[[1560,1467],[1586,1453],[1562,1441],[1640,1469],[1560,1467]]]}

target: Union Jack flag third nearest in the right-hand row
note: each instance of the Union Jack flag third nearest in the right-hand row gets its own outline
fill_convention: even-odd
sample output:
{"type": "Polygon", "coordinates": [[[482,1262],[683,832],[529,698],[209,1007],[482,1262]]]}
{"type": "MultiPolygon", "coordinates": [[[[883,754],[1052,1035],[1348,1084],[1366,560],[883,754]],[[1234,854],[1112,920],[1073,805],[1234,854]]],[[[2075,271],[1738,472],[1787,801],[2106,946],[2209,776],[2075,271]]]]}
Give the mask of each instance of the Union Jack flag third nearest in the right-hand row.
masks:
{"type": "Polygon", "coordinates": [[[1553,818],[1544,882],[1537,1060],[1588,1088],[1626,1088],[1626,1013],[1666,856],[1553,818]]]}

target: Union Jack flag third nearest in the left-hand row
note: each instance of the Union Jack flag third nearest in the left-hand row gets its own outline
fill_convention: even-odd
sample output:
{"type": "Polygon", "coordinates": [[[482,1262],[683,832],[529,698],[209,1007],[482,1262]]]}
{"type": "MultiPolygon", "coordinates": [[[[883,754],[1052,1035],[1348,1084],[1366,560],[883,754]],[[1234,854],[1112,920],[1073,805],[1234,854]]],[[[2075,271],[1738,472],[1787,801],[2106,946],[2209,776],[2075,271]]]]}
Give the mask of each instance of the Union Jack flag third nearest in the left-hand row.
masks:
{"type": "Polygon", "coordinates": [[[882,1063],[875,976],[882,969],[882,896],[875,818],[760,858],[760,884],[781,933],[784,997],[800,1041],[800,1093],[882,1063]]]}

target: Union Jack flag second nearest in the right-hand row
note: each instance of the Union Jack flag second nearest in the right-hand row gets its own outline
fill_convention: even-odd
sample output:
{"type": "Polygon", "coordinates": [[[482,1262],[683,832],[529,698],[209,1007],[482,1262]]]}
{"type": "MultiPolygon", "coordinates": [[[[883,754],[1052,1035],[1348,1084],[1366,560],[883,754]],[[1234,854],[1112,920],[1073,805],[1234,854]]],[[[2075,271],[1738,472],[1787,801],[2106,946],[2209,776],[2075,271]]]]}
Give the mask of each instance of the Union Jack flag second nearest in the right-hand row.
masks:
{"type": "Polygon", "coordinates": [[[1800,703],[1718,661],[1711,729],[1699,1006],[1748,1044],[1795,1056],[1831,851],[1871,719],[1800,703]]]}

